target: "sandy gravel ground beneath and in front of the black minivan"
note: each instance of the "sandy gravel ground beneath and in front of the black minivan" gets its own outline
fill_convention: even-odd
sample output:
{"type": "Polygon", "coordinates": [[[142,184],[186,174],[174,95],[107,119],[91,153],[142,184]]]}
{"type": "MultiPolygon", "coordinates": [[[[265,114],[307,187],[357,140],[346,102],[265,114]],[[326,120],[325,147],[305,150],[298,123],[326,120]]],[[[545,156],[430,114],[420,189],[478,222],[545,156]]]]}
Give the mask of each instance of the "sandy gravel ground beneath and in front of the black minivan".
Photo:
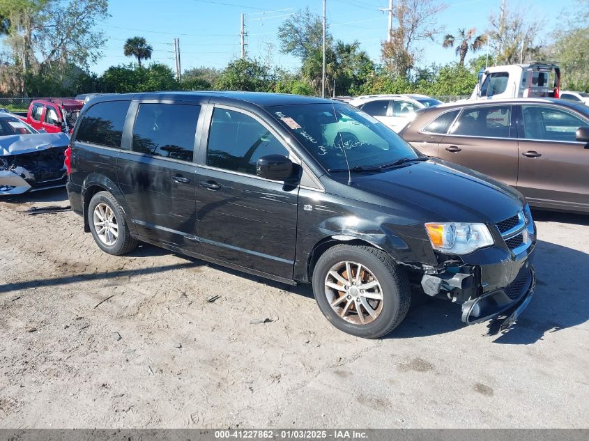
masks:
{"type": "Polygon", "coordinates": [[[54,205],[0,200],[1,428],[589,427],[589,217],[535,212],[537,293],[507,334],[430,301],[367,341],[304,286],[24,214],[54,205]]]}

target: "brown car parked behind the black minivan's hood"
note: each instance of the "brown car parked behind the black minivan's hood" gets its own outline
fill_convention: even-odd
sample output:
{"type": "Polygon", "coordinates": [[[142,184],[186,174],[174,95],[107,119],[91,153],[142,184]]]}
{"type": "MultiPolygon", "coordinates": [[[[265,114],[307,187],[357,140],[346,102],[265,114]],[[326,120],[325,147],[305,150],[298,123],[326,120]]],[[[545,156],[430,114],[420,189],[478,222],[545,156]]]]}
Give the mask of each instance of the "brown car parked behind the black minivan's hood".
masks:
{"type": "Polygon", "coordinates": [[[512,185],[531,206],[589,212],[589,107],[567,100],[463,101],[417,112],[399,133],[422,153],[512,185]]]}

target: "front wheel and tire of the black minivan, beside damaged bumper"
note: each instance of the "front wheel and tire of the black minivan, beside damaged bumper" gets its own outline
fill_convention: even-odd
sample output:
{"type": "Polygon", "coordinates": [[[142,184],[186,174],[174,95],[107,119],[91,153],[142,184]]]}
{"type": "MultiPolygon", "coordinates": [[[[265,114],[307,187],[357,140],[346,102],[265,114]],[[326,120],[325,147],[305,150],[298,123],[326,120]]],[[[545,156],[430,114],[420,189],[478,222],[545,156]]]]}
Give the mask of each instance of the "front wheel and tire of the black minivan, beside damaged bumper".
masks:
{"type": "Polygon", "coordinates": [[[323,253],[313,271],[313,293],[332,325],[365,339],[395,329],[411,304],[406,272],[367,246],[335,245],[323,253]]]}

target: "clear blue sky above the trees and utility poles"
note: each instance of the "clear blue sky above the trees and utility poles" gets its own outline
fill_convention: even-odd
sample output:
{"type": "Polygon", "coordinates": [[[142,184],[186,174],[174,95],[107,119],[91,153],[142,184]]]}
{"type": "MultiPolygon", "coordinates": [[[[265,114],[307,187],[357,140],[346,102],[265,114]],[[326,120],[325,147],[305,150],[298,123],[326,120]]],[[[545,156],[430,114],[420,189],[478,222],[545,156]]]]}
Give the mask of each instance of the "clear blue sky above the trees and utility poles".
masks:
{"type": "MultiPolygon", "coordinates": [[[[479,33],[484,33],[489,14],[498,13],[501,0],[448,0],[445,3],[448,8],[439,14],[438,20],[446,32],[456,33],[461,27],[476,27],[479,33]]],[[[529,17],[544,20],[546,25],[540,36],[546,39],[557,25],[561,11],[572,6],[574,0],[560,0],[558,11],[555,11],[553,0],[507,0],[507,4],[522,8],[529,17]]],[[[174,67],[173,42],[174,37],[178,37],[183,70],[201,65],[223,68],[239,56],[242,12],[245,13],[248,34],[248,55],[265,61],[269,59],[275,65],[294,70],[300,63],[280,53],[278,26],[289,14],[305,6],[321,14],[322,5],[322,0],[111,0],[109,13],[112,17],[98,23],[108,37],[103,50],[105,56],[91,65],[91,70],[101,74],[110,65],[130,63],[132,59],[123,56],[123,45],[126,38],[133,36],[143,36],[153,46],[152,61],[174,67]]],[[[388,0],[327,0],[330,32],[336,39],[360,41],[362,49],[378,61],[388,23],[387,16],[379,8],[387,6],[388,0]]],[[[452,49],[441,47],[441,38],[421,43],[420,65],[457,59],[452,49]]]]}

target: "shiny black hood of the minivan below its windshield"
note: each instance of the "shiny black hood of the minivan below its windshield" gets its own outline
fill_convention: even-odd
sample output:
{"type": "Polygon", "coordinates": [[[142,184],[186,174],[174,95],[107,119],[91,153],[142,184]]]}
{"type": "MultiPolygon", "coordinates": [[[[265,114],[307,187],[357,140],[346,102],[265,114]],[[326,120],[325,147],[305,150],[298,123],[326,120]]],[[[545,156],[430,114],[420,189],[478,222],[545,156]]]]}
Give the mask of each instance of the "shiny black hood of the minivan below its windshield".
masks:
{"type": "Polygon", "coordinates": [[[450,162],[430,159],[367,176],[357,175],[359,189],[406,201],[437,213],[431,222],[501,222],[519,212],[525,199],[489,176],[450,162]]]}

